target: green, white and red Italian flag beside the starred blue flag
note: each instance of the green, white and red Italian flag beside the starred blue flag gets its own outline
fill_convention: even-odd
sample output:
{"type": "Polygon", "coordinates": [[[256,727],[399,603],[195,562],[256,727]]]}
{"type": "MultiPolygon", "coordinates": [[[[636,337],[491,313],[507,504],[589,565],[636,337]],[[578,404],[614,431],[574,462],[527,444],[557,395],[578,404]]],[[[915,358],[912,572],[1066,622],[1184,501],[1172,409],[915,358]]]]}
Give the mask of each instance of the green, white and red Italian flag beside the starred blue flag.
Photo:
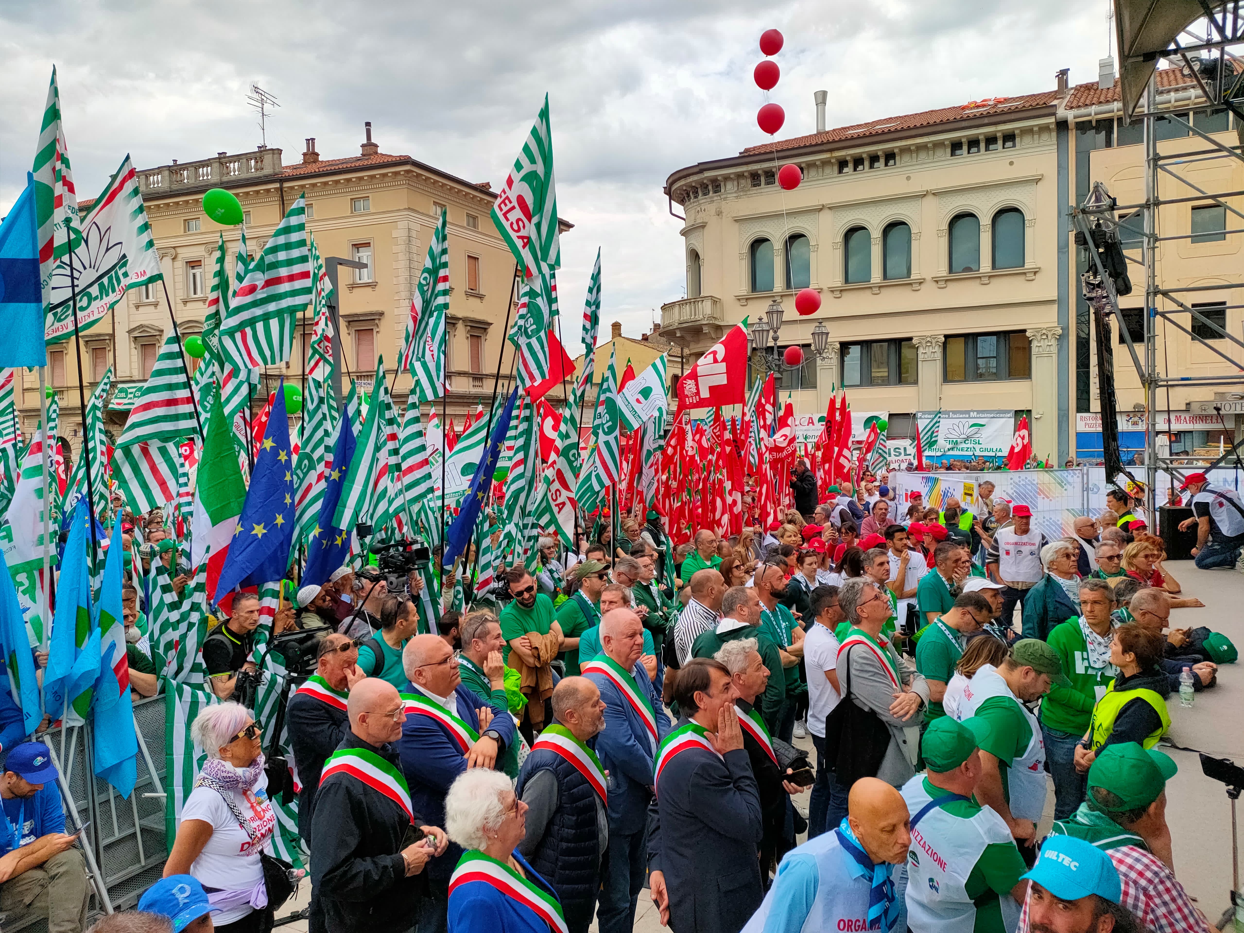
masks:
{"type": "Polygon", "coordinates": [[[211,399],[199,475],[194,485],[194,535],[190,540],[190,564],[198,570],[204,560],[208,562],[208,605],[216,602],[216,583],[245,501],[246,483],[241,478],[238,453],[218,392],[211,399]]]}

